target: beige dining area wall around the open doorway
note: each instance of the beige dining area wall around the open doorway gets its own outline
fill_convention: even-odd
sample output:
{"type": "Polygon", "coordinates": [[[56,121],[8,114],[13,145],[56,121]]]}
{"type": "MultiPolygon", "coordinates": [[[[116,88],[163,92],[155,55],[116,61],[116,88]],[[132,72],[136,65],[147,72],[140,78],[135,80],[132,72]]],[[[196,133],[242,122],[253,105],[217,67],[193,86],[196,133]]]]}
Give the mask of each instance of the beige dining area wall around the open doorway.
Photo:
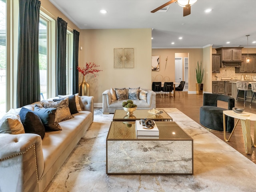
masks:
{"type": "MultiPolygon", "coordinates": [[[[160,70],[152,71],[152,76],[161,74],[163,77],[169,76],[170,81],[175,81],[175,54],[186,53],[188,54],[188,92],[196,93],[196,64],[197,61],[203,63],[203,49],[152,49],[152,56],[160,56],[160,70]],[[165,69],[165,59],[168,56],[167,66],[165,69]]],[[[178,57],[176,55],[176,57],[178,57]]]]}

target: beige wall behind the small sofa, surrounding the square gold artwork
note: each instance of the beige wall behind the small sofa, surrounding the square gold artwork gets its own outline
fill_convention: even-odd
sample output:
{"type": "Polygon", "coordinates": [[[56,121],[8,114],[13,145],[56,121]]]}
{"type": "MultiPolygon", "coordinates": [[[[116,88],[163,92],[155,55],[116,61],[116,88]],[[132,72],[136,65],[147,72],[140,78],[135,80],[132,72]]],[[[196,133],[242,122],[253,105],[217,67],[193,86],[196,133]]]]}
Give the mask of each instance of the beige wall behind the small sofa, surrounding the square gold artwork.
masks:
{"type": "MultiPolygon", "coordinates": [[[[100,65],[96,78],[90,74],[90,95],[102,103],[102,92],[112,88],[151,89],[151,29],[81,30],[79,66],[86,62],[100,65]],[[134,48],[134,68],[114,69],[114,48],[134,48]]],[[[80,74],[79,82],[82,82],[80,74]]]]}

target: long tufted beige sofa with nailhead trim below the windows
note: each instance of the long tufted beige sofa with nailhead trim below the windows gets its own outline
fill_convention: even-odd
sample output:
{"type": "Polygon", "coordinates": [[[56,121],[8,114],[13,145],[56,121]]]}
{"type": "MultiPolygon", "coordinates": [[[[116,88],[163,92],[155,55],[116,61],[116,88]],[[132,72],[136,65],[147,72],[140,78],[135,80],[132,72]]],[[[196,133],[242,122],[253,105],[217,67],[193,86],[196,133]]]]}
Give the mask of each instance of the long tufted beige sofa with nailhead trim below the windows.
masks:
{"type": "MultiPolygon", "coordinates": [[[[73,114],[73,118],[59,122],[62,130],[46,131],[43,139],[33,133],[0,134],[0,191],[44,191],[92,124],[93,99],[92,96],[79,96],[77,101],[82,111],[73,114]]],[[[24,108],[34,110],[35,104],[42,102],[24,108]]],[[[21,110],[16,109],[17,112],[21,110]]]]}

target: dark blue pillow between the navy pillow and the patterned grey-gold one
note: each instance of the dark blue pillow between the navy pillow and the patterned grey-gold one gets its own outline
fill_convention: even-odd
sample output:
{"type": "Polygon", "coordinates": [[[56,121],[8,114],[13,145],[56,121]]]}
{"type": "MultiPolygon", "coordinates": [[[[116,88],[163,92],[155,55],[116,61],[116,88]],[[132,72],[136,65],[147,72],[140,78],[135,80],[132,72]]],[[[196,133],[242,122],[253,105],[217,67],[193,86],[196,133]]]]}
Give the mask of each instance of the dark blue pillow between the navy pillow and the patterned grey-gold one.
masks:
{"type": "Polygon", "coordinates": [[[42,123],[44,124],[45,130],[49,131],[59,131],[62,130],[61,126],[55,122],[55,108],[44,108],[40,104],[35,104],[34,112],[40,117],[42,123]]]}

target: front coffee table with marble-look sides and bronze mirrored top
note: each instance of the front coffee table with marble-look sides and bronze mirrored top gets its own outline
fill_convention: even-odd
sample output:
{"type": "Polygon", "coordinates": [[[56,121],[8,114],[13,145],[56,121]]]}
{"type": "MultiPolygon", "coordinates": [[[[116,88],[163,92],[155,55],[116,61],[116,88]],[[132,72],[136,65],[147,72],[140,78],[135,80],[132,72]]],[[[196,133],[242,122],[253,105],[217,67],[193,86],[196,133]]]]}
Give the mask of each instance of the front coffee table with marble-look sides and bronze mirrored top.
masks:
{"type": "Polygon", "coordinates": [[[112,122],[107,174],[193,174],[193,139],[176,122],[156,122],[159,138],[136,136],[135,122],[112,122]]]}

